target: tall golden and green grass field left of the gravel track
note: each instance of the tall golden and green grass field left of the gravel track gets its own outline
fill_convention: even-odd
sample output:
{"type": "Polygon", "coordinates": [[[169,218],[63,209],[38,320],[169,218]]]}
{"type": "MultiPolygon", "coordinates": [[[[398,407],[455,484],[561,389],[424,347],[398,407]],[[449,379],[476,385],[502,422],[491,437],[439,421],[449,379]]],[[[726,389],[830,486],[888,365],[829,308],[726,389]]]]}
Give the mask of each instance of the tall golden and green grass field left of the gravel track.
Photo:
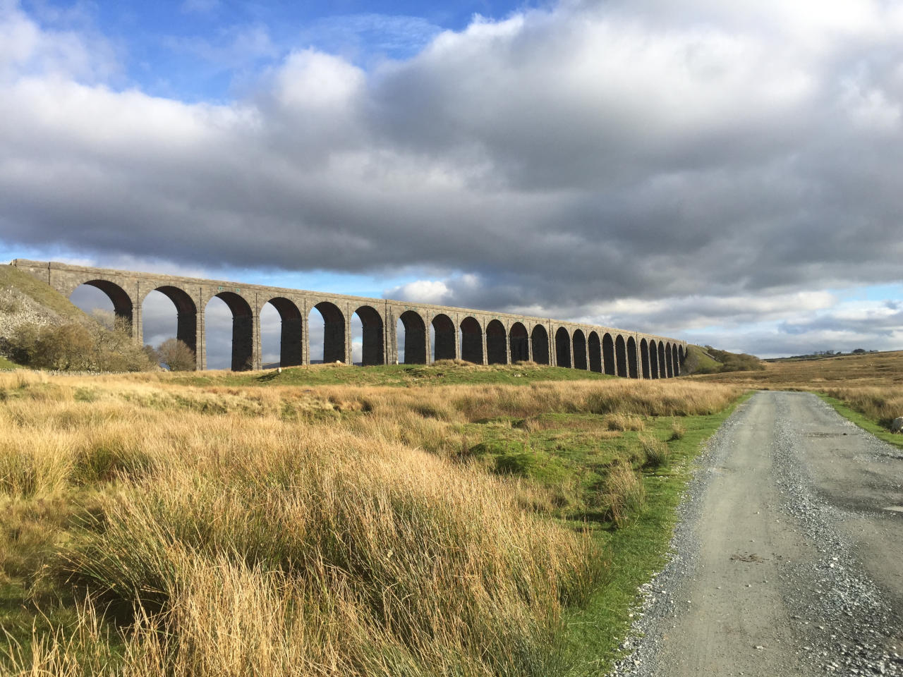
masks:
{"type": "Polygon", "coordinates": [[[247,377],[0,375],[6,670],[593,673],[740,394],[247,377]]]}

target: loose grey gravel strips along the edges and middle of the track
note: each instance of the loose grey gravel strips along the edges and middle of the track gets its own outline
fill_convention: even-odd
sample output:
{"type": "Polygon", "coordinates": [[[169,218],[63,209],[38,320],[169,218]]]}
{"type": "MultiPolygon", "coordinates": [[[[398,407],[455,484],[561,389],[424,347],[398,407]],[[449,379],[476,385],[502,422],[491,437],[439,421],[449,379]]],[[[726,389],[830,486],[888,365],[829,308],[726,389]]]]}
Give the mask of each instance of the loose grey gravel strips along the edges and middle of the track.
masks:
{"type": "MultiPolygon", "coordinates": [[[[903,647],[894,644],[903,628],[898,610],[870,579],[856,558],[851,540],[837,528],[854,512],[829,505],[814,490],[813,480],[796,453],[801,445],[801,423],[792,420],[783,398],[801,394],[760,393],[755,397],[777,398],[775,428],[771,436],[772,480],[783,501],[780,506],[787,523],[796,523],[817,552],[815,561],[784,561],[778,566],[778,585],[785,605],[793,612],[791,623],[802,638],[792,651],[806,672],[849,675],[903,675],[903,647]]],[[[831,408],[815,395],[816,403],[831,408]]],[[[639,590],[633,623],[621,649],[625,655],[610,675],[666,675],[669,666],[660,664],[660,647],[667,631],[675,627],[675,617],[692,600],[675,599],[674,591],[694,577],[700,552],[699,524],[703,496],[718,468],[725,465],[736,432],[747,424],[750,400],[725,421],[705,445],[687,491],[679,507],[679,523],[670,543],[666,567],[639,590]]],[[[843,420],[842,420],[843,421],[843,420]]],[[[899,463],[903,454],[861,431],[851,422],[849,434],[864,436],[864,448],[875,459],[899,463]]],[[[846,433],[844,433],[846,434],[846,433]]],[[[727,553],[725,553],[727,554],[727,553]]],[[[903,568],[903,562],[900,563],[903,568]]],[[[764,646],[755,646],[763,650],[764,646]]]]}

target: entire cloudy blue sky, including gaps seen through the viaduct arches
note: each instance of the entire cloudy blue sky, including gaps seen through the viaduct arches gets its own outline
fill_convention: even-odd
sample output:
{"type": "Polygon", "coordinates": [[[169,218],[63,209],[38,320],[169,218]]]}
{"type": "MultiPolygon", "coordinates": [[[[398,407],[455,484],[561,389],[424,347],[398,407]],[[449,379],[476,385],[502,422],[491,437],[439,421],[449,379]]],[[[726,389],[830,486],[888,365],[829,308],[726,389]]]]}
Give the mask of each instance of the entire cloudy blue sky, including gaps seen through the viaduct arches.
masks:
{"type": "Polygon", "coordinates": [[[0,0],[0,260],[899,349],[901,107],[890,0],[0,0]]]}

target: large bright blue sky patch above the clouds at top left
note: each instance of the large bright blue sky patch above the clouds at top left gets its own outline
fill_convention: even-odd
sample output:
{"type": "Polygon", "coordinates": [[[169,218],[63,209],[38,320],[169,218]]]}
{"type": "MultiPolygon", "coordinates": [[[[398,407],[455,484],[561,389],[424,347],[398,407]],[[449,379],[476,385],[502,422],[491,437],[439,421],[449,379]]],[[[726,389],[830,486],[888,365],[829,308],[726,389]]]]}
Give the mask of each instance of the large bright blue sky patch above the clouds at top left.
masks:
{"type": "Polygon", "coordinates": [[[405,60],[475,15],[502,19],[538,3],[489,2],[26,2],[48,29],[97,32],[122,71],[118,88],[223,101],[253,87],[254,74],[298,48],[340,54],[362,68],[405,60]]]}

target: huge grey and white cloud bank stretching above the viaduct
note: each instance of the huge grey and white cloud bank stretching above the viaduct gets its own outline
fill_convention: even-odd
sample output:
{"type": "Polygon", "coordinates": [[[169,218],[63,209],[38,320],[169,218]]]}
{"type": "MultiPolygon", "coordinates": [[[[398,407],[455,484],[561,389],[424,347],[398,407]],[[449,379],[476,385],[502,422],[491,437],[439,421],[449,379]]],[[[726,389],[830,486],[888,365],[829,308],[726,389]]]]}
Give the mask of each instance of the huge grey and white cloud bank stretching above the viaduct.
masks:
{"type": "Polygon", "coordinates": [[[624,318],[649,329],[749,321],[700,297],[898,281],[903,26],[793,5],[561,3],[370,72],[295,51],[226,106],[51,78],[39,43],[0,63],[0,239],[452,271],[456,303],[555,316],[684,300],[624,318]]]}

